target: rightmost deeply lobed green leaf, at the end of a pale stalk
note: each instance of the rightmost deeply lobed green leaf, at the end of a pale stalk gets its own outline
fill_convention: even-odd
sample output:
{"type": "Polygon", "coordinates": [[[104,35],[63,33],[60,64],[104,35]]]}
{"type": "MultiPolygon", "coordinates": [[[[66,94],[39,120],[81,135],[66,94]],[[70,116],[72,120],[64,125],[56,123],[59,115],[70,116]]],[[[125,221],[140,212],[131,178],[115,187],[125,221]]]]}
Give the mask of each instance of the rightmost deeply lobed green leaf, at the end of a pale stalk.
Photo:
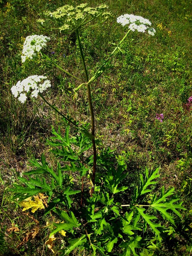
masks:
{"type": "Polygon", "coordinates": [[[176,215],[178,215],[181,218],[180,212],[178,212],[178,210],[176,209],[182,209],[182,210],[186,210],[186,209],[182,206],[182,202],[180,202],[179,204],[175,204],[175,202],[177,202],[179,198],[174,198],[170,200],[167,199],[168,196],[172,196],[173,192],[174,192],[174,188],[170,188],[167,192],[165,192],[164,186],[163,186],[160,196],[156,199],[156,195],[155,195],[153,198],[152,204],[150,206],[158,210],[161,214],[163,214],[163,216],[165,216],[165,218],[168,221],[170,221],[172,224],[175,225],[173,217],[169,212],[167,212],[167,210],[172,210],[172,212],[174,212],[176,215]]]}

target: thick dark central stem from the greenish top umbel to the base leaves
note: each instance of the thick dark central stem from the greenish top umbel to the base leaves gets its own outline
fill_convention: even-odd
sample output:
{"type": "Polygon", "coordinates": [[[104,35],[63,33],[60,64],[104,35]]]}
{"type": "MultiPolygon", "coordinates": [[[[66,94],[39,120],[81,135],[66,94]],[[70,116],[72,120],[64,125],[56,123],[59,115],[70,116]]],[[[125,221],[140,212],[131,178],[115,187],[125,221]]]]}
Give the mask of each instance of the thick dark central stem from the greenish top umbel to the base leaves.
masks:
{"type": "MultiPolygon", "coordinates": [[[[83,68],[85,72],[85,77],[86,77],[86,82],[87,82],[87,94],[88,94],[88,101],[89,101],[89,109],[90,109],[90,115],[91,115],[91,130],[92,130],[92,136],[95,136],[95,121],[94,121],[94,112],[93,112],[93,105],[92,105],[92,98],[91,98],[91,88],[90,84],[88,83],[89,78],[88,78],[88,73],[87,73],[87,68],[85,64],[85,59],[82,51],[82,46],[79,38],[79,32],[78,29],[76,29],[76,35],[77,35],[77,41],[78,41],[78,46],[81,54],[81,59],[83,63],[83,68]]],[[[94,193],[94,185],[95,185],[95,174],[96,174],[96,159],[97,159],[97,152],[96,152],[96,144],[95,144],[95,138],[92,139],[92,145],[93,145],[93,173],[92,173],[92,183],[93,186],[91,188],[91,195],[94,193]]]]}

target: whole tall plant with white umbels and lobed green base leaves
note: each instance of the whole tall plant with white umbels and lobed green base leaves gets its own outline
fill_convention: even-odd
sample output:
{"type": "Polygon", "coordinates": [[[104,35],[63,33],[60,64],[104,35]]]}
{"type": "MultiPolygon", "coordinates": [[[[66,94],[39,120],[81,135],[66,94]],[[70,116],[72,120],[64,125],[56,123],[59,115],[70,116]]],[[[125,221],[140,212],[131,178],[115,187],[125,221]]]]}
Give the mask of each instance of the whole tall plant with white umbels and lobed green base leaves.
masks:
{"type": "MultiPolygon", "coordinates": [[[[61,32],[76,32],[85,75],[84,81],[70,74],[55,62],[52,62],[51,58],[43,52],[46,42],[50,40],[47,36],[28,36],[24,42],[22,52],[22,62],[25,62],[27,58],[32,59],[37,52],[40,52],[43,58],[52,62],[57,68],[68,74],[68,76],[82,81],[82,84],[75,89],[75,93],[82,86],[86,86],[91,117],[91,132],[88,125],[79,126],[78,122],[62,114],[44,98],[42,93],[51,87],[50,81],[47,80],[46,76],[29,76],[11,88],[12,94],[22,103],[29,96],[37,97],[39,95],[50,108],[58,112],[62,118],[66,119],[78,131],[75,136],[71,137],[69,126],[66,127],[64,135],[52,128],[54,137],[51,137],[48,143],[54,148],[52,152],[58,159],[56,170],[49,166],[44,155],[41,157],[41,162],[30,160],[30,164],[35,169],[25,173],[28,176],[27,179],[19,178],[26,186],[14,184],[15,188],[13,189],[16,193],[15,197],[19,198],[20,205],[25,206],[25,208],[27,208],[26,204],[31,202],[32,196],[38,193],[45,193],[48,196],[46,214],[50,213],[50,211],[56,212],[62,219],[62,222],[54,223],[56,228],[50,233],[50,239],[46,244],[50,244],[51,241],[55,240],[54,234],[56,232],[63,233],[65,236],[68,234],[69,245],[62,245],[61,255],[69,255],[76,247],[80,249],[86,248],[92,252],[92,255],[96,255],[96,251],[101,255],[114,255],[113,250],[116,246],[119,247],[119,255],[121,256],[138,255],[136,250],[141,248],[140,241],[142,234],[146,231],[146,224],[148,224],[151,232],[155,234],[155,240],[162,240],[161,230],[163,227],[160,223],[152,221],[156,219],[151,213],[152,210],[154,212],[158,211],[172,225],[175,225],[172,215],[167,210],[171,209],[176,215],[181,217],[176,209],[184,209],[182,203],[175,203],[178,199],[168,198],[172,196],[173,188],[168,191],[162,188],[159,196],[154,194],[150,204],[147,203],[149,202],[148,199],[144,199],[147,196],[151,196],[154,184],[157,182],[156,179],[159,177],[158,168],[150,174],[148,169],[146,169],[144,176],[140,175],[140,184],[134,189],[132,199],[128,204],[116,202],[114,195],[123,193],[128,189],[127,186],[119,186],[127,176],[126,159],[124,156],[118,156],[114,162],[115,155],[113,150],[109,148],[106,152],[100,151],[97,154],[91,84],[103,74],[110,58],[119,49],[119,46],[130,32],[148,32],[152,36],[155,33],[148,19],[133,14],[119,16],[117,22],[122,26],[128,26],[128,31],[100,68],[89,78],[79,32],[84,26],[88,26],[90,22],[96,21],[98,18],[102,20],[109,18],[110,12],[106,10],[107,6],[105,4],[96,8],[90,8],[87,4],[80,4],[76,7],[65,5],[54,12],[46,12],[45,19],[38,20],[44,26],[46,26],[46,23],[56,26],[61,32]],[[90,150],[90,148],[92,148],[93,154],[87,157],[87,154],[84,153],[90,150]],[[60,164],[61,162],[62,165],[60,164]],[[97,166],[99,166],[102,174],[98,175],[100,182],[95,186],[97,166]],[[81,190],[74,190],[70,172],[79,172],[82,178],[81,190]],[[36,178],[32,176],[34,174],[36,178]],[[50,179],[47,181],[43,174],[50,176],[50,179]],[[84,196],[84,176],[90,177],[91,184],[90,196],[86,193],[87,198],[84,196]],[[73,196],[78,193],[81,194],[79,208],[78,204],[74,204],[75,198],[73,196]],[[122,211],[124,207],[128,209],[126,212],[122,211]],[[146,208],[152,209],[150,210],[151,215],[145,213],[146,208]]],[[[35,202],[32,202],[34,205],[35,202]]],[[[39,208],[42,209],[42,202],[40,206],[39,208]]],[[[29,208],[30,206],[28,206],[29,208]]],[[[50,248],[53,250],[52,246],[50,248]]]]}

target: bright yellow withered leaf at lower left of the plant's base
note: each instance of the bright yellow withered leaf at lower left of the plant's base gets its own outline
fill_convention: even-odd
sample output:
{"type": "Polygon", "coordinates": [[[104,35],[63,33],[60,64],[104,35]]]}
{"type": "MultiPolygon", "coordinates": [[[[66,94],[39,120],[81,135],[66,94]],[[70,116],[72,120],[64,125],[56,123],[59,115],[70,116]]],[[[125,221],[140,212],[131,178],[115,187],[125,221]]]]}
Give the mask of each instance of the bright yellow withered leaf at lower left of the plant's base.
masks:
{"type": "Polygon", "coordinates": [[[42,203],[42,200],[38,196],[34,196],[35,201],[31,200],[31,197],[26,198],[24,201],[20,202],[19,205],[23,206],[23,210],[28,210],[31,208],[31,212],[35,212],[38,209],[44,209],[44,205],[42,203]]]}

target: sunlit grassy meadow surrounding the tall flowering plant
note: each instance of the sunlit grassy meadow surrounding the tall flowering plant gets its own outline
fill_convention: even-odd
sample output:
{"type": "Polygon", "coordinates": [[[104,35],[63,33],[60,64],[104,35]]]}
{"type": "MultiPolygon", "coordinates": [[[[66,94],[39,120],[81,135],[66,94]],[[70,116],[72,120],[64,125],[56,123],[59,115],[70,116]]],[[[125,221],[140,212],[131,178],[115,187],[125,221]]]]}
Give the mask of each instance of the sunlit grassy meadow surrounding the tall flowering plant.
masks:
{"type": "MultiPolygon", "coordinates": [[[[130,190],[145,166],[160,167],[160,184],[174,186],[188,210],[178,224],[179,235],[171,236],[172,240],[167,240],[157,255],[190,255],[192,106],[189,108],[186,103],[192,96],[192,4],[185,0],[91,0],[89,4],[103,2],[108,4],[113,18],[80,32],[90,76],[126,32],[126,27],[116,23],[119,15],[133,13],[148,18],[156,34],[149,37],[131,33],[120,47],[121,52],[112,58],[112,68],[92,84],[97,136],[104,147],[125,152],[130,190]],[[156,120],[156,113],[164,114],[162,123],[156,120]]],[[[73,101],[73,89],[79,85],[75,80],[40,56],[23,65],[20,58],[26,36],[44,34],[51,37],[46,54],[84,79],[80,54],[75,34],[40,30],[36,23],[45,10],[53,11],[63,1],[2,0],[0,4],[0,254],[52,255],[44,243],[55,217],[45,217],[42,211],[33,217],[22,212],[8,188],[29,168],[29,158],[40,158],[44,152],[53,162],[46,138],[51,136],[52,124],[57,128],[63,123],[40,98],[20,104],[10,88],[29,75],[45,74],[52,82],[46,99],[75,120],[90,122],[85,88],[73,101]],[[8,232],[12,226],[18,226],[19,232],[8,232]],[[18,246],[37,227],[34,239],[18,246]]],[[[74,1],[67,0],[65,4],[74,5],[74,1]]],[[[58,234],[55,251],[61,240],[58,234]]],[[[76,251],[74,255],[83,253],[76,251]]]]}

